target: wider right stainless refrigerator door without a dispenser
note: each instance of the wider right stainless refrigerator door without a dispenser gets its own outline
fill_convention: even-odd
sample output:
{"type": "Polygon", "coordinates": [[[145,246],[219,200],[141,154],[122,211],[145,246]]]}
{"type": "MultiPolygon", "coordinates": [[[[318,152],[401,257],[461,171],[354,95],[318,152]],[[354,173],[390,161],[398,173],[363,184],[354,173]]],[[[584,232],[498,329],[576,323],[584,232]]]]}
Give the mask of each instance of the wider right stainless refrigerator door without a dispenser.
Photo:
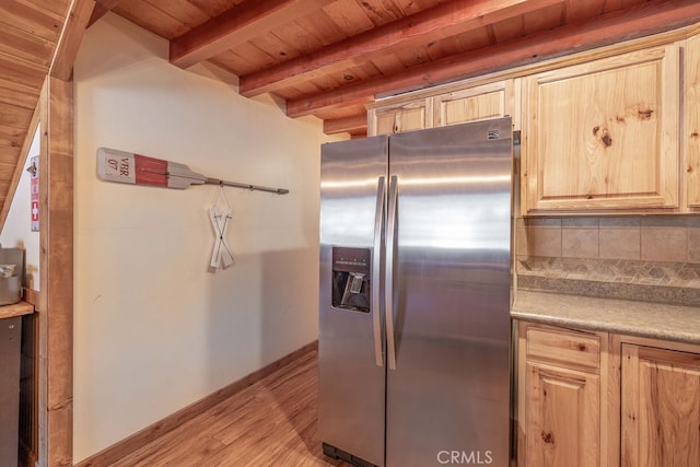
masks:
{"type": "Polygon", "coordinates": [[[386,465],[506,466],[511,119],[400,133],[389,145],[386,465]]]}

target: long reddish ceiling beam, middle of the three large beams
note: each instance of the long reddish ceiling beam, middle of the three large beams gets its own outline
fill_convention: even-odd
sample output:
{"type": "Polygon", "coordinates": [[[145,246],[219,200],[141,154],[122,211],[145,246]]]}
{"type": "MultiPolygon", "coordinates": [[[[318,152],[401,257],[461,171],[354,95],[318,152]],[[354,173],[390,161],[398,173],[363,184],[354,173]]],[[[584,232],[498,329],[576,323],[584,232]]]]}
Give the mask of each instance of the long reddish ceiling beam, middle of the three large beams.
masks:
{"type": "Polygon", "coordinates": [[[339,72],[400,49],[424,45],[500,21],[538,11],[563,0],[452,0],[383,26],[241,77],[240,92],[253,97],[313,77],[339,72]]]}

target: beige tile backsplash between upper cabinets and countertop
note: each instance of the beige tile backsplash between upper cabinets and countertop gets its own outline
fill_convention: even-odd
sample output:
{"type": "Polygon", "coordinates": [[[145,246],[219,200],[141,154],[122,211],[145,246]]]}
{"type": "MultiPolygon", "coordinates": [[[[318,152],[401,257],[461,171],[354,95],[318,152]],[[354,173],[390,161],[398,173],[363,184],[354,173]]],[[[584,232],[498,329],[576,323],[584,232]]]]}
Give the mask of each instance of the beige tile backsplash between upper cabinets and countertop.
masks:
{"type": "Polygon", "coordinates": [[[525,287],[571,279],[700,290],[700,217],[521,218],[515,241],[525,287]]]}

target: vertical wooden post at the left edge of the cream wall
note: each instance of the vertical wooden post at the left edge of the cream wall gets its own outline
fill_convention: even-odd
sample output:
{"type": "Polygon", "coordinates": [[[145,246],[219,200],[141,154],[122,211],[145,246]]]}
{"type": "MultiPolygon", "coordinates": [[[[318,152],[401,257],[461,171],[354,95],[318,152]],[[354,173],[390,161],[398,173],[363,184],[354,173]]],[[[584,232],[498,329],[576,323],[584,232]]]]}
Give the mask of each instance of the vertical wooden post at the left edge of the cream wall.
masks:
{"type": "Polygon", "coordinates": [[[39,156],[39,458],[73,456],[73,83],[48,77],[39,156]],[[42,424],[43,422],[43,424],[42,424]]]}

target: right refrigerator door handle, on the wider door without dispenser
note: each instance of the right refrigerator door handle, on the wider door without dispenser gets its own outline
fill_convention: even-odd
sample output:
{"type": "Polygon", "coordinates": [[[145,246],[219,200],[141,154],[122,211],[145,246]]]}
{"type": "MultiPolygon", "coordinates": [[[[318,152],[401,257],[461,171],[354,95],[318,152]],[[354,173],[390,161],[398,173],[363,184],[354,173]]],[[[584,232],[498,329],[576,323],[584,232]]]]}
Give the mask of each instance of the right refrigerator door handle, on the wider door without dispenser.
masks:
{"type": "Polygon", "coordinates": [[[386,273],[384,283],[387,364],[396,370],[396,346],[394,341],[394,252],[396,230],[396,208],[398,201],[398,178],[392,175],[388,189],[388,212],[386,219],[386,273]]]}

